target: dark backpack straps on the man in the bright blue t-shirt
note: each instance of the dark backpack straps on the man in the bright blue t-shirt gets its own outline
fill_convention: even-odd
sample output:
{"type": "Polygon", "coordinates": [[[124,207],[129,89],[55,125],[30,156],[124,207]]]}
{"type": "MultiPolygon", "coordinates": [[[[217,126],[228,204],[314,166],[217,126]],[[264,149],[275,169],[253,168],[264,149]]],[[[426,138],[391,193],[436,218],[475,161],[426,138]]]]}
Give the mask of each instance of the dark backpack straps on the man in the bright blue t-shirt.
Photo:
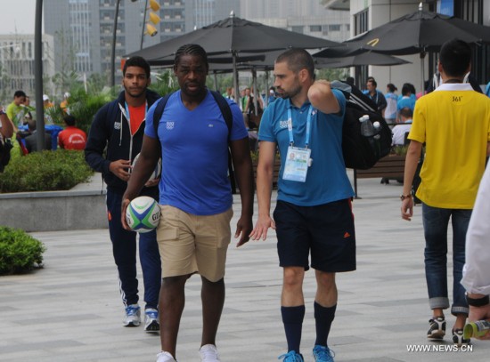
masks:
{"type": "MultiPolygon", "coordinates": [[[[232,134],[232,125],[233,125],[233,114],[232,114],[232,109],[230,109],[230,105],[228,104],[228,101],[226,101],[225,97],[223,97],[220,93],[217,93],[215,91],[209,91],[213,95],[219,109],[221,110],[221,114],[223,115],[223,118],[225,118],[225,123],[226,126],[228,127],[228,145],[230,144],[230,136],[232,134]]],[[[158,101],[156,101],[157,105],[155,107],[155,110],[153,112],[153,128],[155,129],[155,133],[158,134],[159,132],[159,120],[163,115],[163,111],[165,110],[165,106],[167,106],[167,101],[170,98],[170,95],[173,93],[168,93],[166,96],[161,97],[158,101]]],[[[228,173],[230,176],[230,181],[231,181],[231,186],[232,186],[232,192],[233,194],[236,193],[236,184],[235,184],[235,178],[234,178],[234,173],[233,173],[233,163],[232,163],[232,155],[230,153],[230,149],[228,148],[228,173]]]]}

